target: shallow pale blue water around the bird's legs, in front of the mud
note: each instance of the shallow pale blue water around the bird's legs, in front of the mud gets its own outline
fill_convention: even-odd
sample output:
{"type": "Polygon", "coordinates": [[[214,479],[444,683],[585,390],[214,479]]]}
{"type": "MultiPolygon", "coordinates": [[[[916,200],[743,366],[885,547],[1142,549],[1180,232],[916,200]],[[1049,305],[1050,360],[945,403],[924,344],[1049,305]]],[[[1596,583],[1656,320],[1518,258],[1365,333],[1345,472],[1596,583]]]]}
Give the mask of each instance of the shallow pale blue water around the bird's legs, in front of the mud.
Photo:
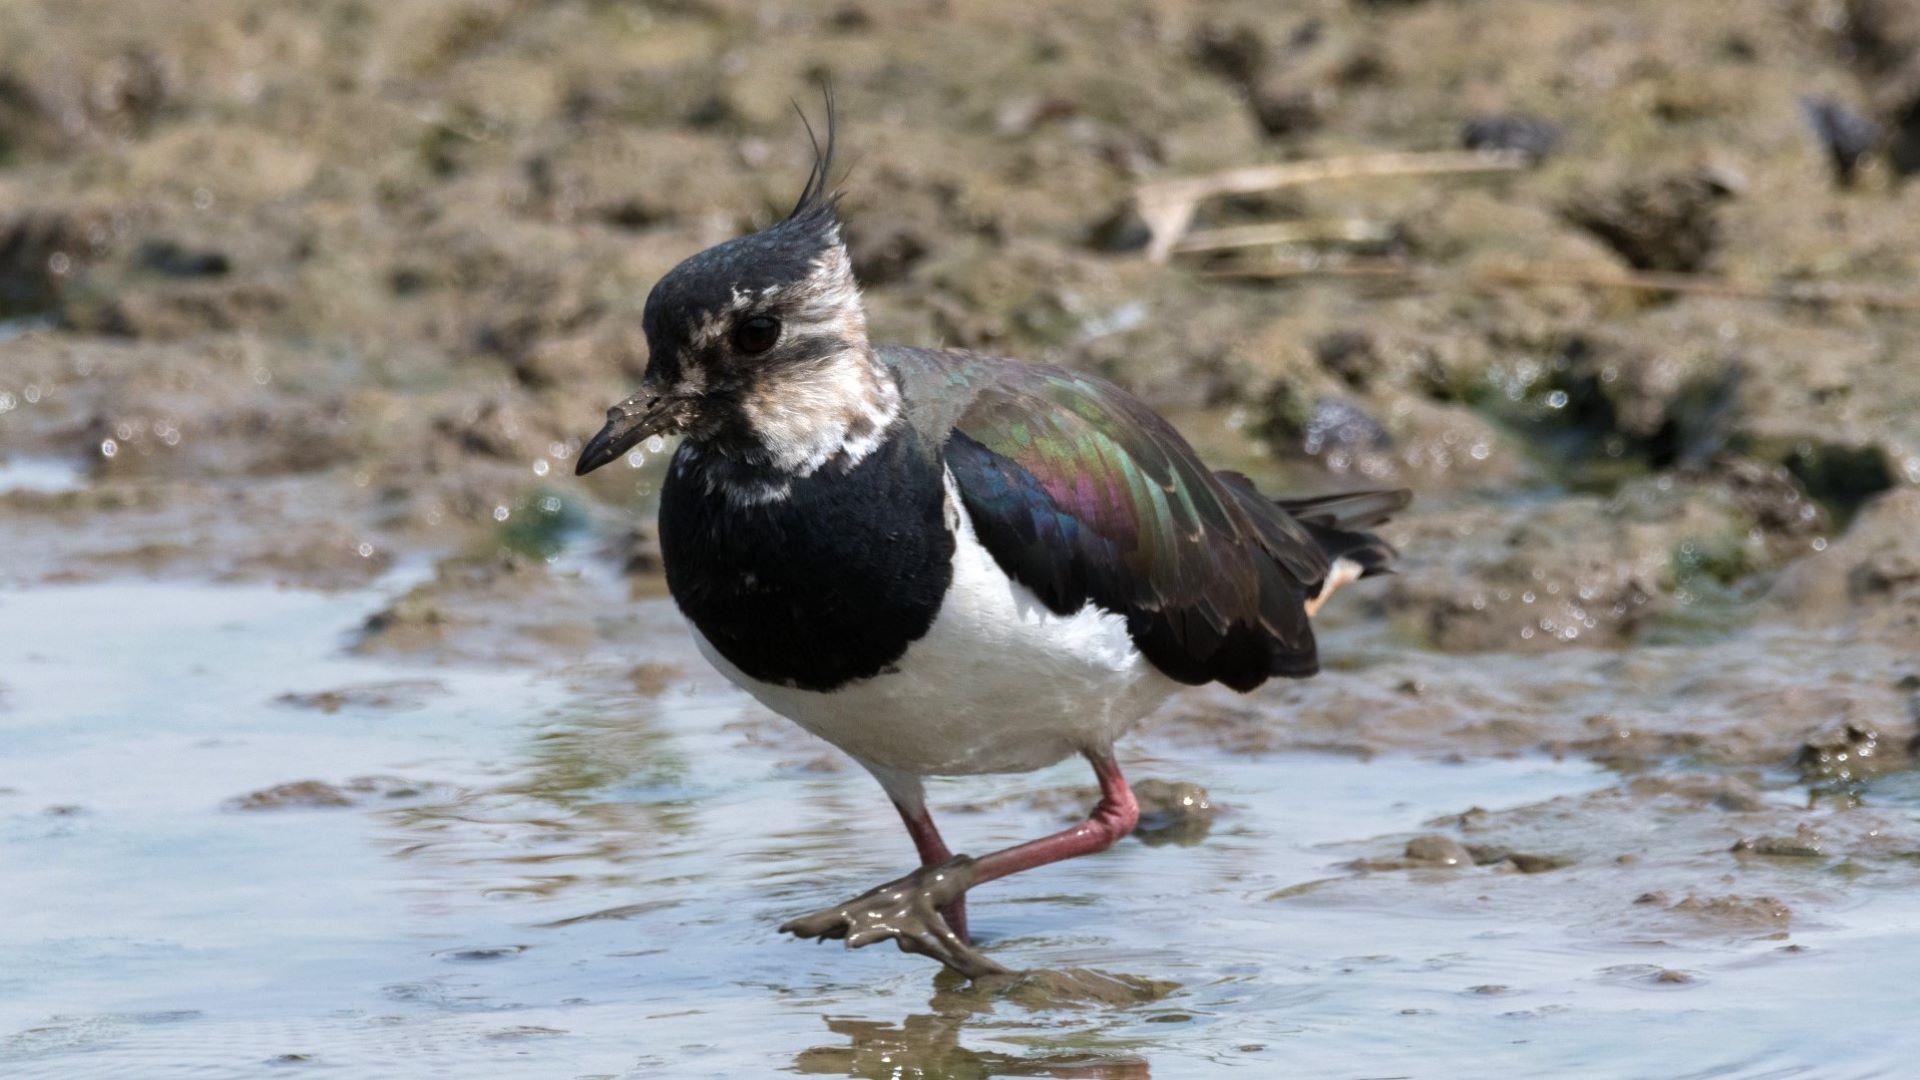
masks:
{"type": "MultiPolygon", "coordinates": [[[[1438,815],[1613,782],[1572,761],[1236,759],[1148,734],[1137,778],[1229,807],[1204,842],[996,882],[973,920],[1014,965],[1171,986],[1150,1001],[787,942],[781,919],[908,869],[864,774],[755,738],[664,601],[628,657],[684,665],[655,698],[580,667],[349,655],[403,584],[0,592],[0,1074],[1857,1076],[1912,1049],[1903,994],[1849,994],[1920,969],[1897,890],[1862,886],[1786,947],[1592,934],[1582,874],[1603,869],[1344,869],[1438,815]],[[228,805],[298,780],[353,805],[228,805]],[[1300,888],[1321,878],[1350,880],[1300,888]]],[[[1081,773],[933,799],[991,803],[945,817],[981,851],[1058,826],[1020,796],[1081,773]]]]}

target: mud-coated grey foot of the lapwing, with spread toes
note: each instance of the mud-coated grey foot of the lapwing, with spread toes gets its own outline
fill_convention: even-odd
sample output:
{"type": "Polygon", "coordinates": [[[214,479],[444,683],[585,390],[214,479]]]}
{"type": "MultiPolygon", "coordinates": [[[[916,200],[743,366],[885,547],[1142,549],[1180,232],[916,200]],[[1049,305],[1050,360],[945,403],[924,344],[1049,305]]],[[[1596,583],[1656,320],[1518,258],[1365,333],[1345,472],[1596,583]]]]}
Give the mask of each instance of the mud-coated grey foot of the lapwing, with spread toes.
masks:
{"type": "Polygon", "coordinates": [[[937,867],[922,867],[904,878],[868,890],[847,903],[780,924],[781,934],[845,938],[849,949],[893,938],[902,953],[941,961],[966,978],[1012,974],[975,949],[947,924],[941,909],[966,896],[973,884],[973,859],[954,855],[937,867]]]}

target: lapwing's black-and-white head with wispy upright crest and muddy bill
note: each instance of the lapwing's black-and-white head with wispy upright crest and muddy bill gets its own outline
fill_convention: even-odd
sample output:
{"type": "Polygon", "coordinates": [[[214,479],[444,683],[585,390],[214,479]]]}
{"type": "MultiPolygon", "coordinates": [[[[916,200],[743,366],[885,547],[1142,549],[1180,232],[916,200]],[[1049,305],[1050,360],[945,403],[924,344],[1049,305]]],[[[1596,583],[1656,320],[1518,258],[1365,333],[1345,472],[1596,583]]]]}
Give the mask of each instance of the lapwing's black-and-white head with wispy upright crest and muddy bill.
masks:
{"type": "Polygon", "coordinates": [[[899,392],[874,361],[829,190],[833,127],[829,98],[826,146],[814,142],[785,219],[691,256],[653,286],[647,375],[607,409],[578,475],[655,434],[806,475],[893,421],[899,392]]]}

